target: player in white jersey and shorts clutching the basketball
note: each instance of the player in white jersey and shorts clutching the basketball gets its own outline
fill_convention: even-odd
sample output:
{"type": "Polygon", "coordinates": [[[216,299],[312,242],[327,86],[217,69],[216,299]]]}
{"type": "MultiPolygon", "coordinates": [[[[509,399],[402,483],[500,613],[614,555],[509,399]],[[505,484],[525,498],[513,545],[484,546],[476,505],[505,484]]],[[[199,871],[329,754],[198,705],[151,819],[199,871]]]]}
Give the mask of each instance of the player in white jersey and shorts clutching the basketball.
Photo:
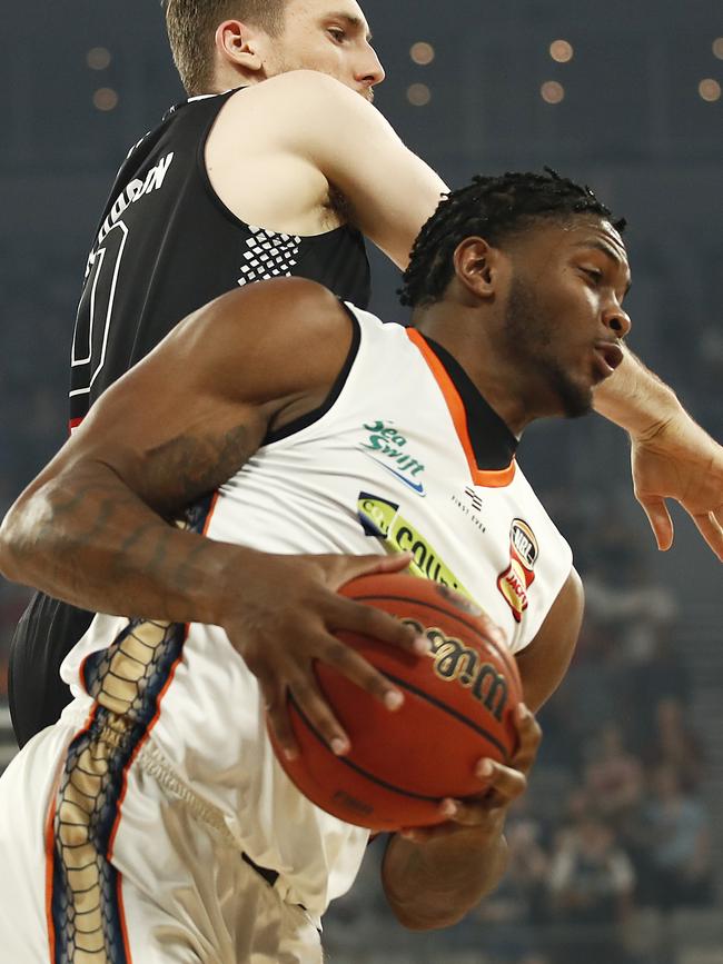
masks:
{"type": "MultiPolygon", "coordinates": [[[[321,960],[319,918],[368,835],[295,789],[266,716],[293,754],[290,694],[348,751],[314,659],[403,698],[334,637],[364,607],[329,570],[323,586],[331,558],[408,550],[402,565],[496,624],[529,709],[548,698],[582,587],[515,450],[535,418],[587,411],[622,362],[622,227],[552,173],[476,179],[415,245],[415,329],[264,282],[190,316],[98,400],[2,528],[4,575],[121,614],[96,617],[63,664],[76,699],[0,779],[9,960],[321,960]]],[[[479,761],[491,797],[390,838],[405,925],[449,925],[498,881],[539,742],[528,709],[517,725],[512,766],[479,761]]]]}

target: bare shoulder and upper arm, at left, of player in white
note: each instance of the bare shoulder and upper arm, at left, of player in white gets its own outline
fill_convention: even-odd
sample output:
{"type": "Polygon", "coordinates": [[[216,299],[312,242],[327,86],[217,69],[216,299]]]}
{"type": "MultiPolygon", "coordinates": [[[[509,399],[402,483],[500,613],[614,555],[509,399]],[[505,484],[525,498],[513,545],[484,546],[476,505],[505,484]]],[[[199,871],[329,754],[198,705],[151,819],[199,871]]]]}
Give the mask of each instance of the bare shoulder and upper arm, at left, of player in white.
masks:
{"type": "Polygon", "coordinates": [[[175,511],[238,471],[285,406],[336,377],[348,327],[334,296],[301,279],[224,295],[102,394],[37,483],[102,464],[156,511],[175,511]],[[308,356],[289,337],[298,329],[308,356]]]}

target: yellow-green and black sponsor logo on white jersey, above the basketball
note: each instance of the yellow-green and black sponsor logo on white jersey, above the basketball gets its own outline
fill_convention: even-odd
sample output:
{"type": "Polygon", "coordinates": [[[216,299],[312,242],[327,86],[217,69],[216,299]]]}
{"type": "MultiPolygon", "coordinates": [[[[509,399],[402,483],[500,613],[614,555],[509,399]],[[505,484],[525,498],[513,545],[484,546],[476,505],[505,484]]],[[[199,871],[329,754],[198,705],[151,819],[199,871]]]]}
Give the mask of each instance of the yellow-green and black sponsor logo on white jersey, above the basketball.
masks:
{"type": "Polygon", "coordinates": [[[412,553],[409,570],[413,575],[449,586],[473,603],[476,602],[428,539],[399,514],[396,503],[369,493],[359,493],[357,513],[367,536],[380,539],[389,551],[412,553]]]}

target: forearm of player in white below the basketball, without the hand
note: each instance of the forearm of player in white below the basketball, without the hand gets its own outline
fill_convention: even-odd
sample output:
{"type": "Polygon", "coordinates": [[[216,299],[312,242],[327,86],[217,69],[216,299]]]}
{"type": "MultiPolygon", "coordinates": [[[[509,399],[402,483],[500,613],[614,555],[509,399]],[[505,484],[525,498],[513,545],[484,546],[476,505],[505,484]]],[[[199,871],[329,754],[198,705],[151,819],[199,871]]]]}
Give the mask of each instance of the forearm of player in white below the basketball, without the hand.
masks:
{"type": "Polygon", "coordinates": [[[426,931],[458,923],[495,890],[506,866],[501,822],[499,834],[486,845],[476,843],[474,832],[424,844],[397,834],[387,846],[382,876],[398,921],[426,931]]]}

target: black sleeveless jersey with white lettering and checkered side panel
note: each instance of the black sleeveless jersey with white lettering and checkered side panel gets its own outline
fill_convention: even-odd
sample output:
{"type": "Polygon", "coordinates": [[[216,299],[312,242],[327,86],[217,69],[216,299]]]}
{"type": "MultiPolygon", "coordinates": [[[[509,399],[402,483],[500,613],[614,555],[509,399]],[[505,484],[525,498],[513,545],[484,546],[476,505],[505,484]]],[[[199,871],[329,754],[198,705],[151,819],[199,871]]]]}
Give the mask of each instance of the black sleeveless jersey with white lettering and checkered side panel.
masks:
{"type": "MultiPolygon", "coordinates": [[[[344,226],[299,237],[265,230],[239,220],[214,191],[206,141],[232,93],[172,108],[118,173],[88,259],[72,339],[71,428],[178,321],[237,286],[297,275],[368,305],[369,265],[358,231],[344,226]]],[[[20,745],[70,700],[59,667],[92,615],[42,593],[32,598],[10,657],[20,745]]]]}

